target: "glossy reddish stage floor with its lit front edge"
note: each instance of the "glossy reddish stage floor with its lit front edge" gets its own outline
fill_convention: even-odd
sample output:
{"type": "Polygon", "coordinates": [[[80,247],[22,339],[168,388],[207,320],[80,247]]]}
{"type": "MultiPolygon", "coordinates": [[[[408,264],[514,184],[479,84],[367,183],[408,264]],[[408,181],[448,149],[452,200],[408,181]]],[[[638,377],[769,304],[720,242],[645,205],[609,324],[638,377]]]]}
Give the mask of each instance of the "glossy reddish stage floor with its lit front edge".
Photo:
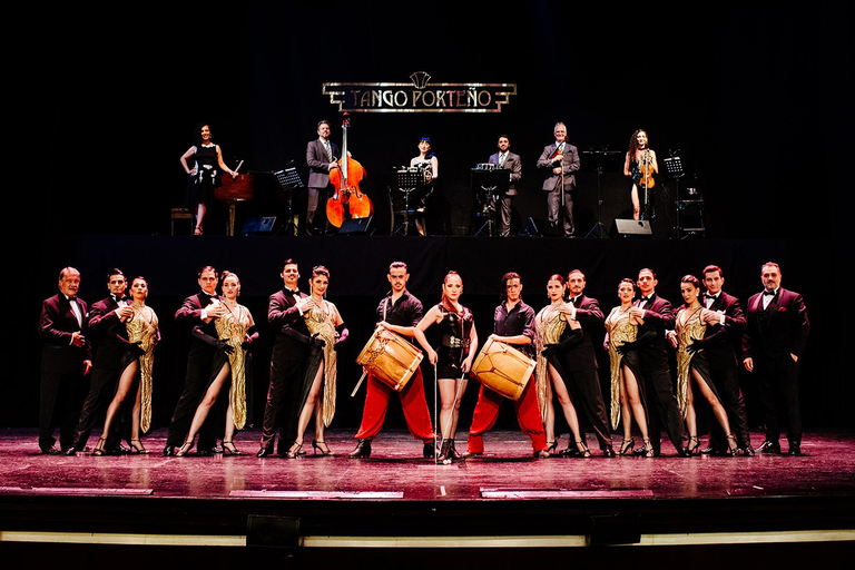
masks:
{"type": "Polygon", "coordinates": [[[707,549],[711,561],[734,549],[774,558],[794,544],[834,557],[855,544],[855,436],[841,432],[806,433],[803,456],[684,459],[664,443],[660,458],[607,459],[589,438],[590,459],[533,459],[521,432],[498,430],[483,456],[452,465],[422,459],[421,442],[395,429],[360,460],[347,458],[353,432],[343,430],[327,432],[333,456],[313,455],[307,439],[296,460],[256,459],[255,430],[236,439],[239,456],[164,458],[165,438],[144,440],[148,455],[57,456],[38,453],[35,430],[4,431],[2,547],[168,547],[179,557],[220,547],[220,560],[296,561],[432,552],[423,562],[454,549],[501,564],[531,549],[584,557],[651,547],[632,549],[645,560],[701,547],[694,552],[707,549]]]}

